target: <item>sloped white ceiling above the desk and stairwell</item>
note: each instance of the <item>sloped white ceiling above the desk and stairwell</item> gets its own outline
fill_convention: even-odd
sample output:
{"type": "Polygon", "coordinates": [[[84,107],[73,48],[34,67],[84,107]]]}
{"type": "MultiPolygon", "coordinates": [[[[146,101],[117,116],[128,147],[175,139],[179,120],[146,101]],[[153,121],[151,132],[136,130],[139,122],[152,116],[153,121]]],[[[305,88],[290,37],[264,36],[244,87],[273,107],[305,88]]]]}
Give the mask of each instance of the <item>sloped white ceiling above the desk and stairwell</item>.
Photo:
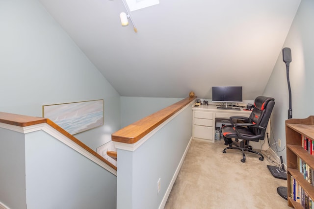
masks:
{"type": "Polygon", "coordinates": [[[120,24],[122,0],[39,1],[121,96],[243,86],[244,100],[263,93],[300,3],[160,0],[131,12],[135,33],[120,24]]]}

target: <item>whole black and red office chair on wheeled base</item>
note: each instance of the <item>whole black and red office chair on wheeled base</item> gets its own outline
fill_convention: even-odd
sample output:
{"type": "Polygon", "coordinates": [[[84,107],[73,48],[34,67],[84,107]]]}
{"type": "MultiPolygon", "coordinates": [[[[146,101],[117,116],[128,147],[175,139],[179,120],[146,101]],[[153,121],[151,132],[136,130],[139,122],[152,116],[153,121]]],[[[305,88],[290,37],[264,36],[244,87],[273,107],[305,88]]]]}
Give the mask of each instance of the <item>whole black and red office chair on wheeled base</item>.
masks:
{"type": "Polygon", "coordinates": [[[260,161],[264,160],[264,156],[253,150],[250,141],[264,140],[266,127],[270,118],[270,114],[275,105],[275,99],[266,96],[258,96],[254,102],[254,108],[250,117],[232,116],[230,121],[232,125],[222,127],[222,134],[225,139],[225,144],[229,145],[222,152],[226,153],[227,149],[238,149],[242,151],[242,163],[245,163],[245,151],[260,155],[260,161]],[[237,145],[232,139],[238,141],[243,139],[237,145]],[[233,147],[235,145],[235,147],[233,147]]]}

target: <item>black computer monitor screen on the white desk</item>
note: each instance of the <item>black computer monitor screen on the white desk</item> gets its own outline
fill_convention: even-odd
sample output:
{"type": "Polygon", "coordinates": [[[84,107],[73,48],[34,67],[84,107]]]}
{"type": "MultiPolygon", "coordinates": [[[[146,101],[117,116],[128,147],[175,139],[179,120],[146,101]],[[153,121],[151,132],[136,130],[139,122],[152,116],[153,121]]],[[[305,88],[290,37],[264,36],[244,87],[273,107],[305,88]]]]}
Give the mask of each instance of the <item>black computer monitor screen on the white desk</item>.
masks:
{"type": "Polygon", "coordinates": [[[242,102],[241,86],[213,86],[212,87],[213,102],[242,102]]]}

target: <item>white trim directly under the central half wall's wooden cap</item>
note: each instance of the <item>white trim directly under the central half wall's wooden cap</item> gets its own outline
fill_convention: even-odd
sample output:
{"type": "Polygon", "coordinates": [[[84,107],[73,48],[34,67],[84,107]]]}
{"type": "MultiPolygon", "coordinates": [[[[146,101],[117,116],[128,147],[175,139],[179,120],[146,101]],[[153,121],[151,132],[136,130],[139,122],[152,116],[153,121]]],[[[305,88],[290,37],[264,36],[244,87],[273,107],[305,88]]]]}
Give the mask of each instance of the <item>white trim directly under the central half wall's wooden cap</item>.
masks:
{"type": "Polygon", "coordinates": [[[178,116],[180,113],[183,112],[187,107],[191,105],[191,103],[194,103],[195,101],[191,101],[186,106],[184,106],[181,110],[179,110],[177,113],[175,113],[173,116],[169,117],[167,120],[165,120],[163,123],[161,123],[159,126],[157,126],[153,131],[149,132],[147,135],[145,135],[142,139],[139,139],[135,143],[128,144],[118,141],[113,141],[114,145],[117,149],[127,150],[134,152],[138,147],[140,147],[145,141],[147,141],[149,138],[151,138],[153,135],[157,133],[163,126],[165,126],[167,123],[169,123],[174,117],[178,116]]]}

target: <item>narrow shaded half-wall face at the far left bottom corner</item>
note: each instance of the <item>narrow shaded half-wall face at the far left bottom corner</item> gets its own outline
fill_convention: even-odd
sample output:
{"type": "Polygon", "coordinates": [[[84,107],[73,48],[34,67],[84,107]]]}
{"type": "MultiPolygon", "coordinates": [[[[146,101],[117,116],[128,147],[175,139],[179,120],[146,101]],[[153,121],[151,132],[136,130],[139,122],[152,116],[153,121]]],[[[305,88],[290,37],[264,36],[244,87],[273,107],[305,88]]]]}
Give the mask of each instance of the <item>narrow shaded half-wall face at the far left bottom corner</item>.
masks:
{"type": "Polygon", "coordinates": [[[0,128],[0,136],[0,202],[10,209],[25,209],[24,134],[0,128]]]}

